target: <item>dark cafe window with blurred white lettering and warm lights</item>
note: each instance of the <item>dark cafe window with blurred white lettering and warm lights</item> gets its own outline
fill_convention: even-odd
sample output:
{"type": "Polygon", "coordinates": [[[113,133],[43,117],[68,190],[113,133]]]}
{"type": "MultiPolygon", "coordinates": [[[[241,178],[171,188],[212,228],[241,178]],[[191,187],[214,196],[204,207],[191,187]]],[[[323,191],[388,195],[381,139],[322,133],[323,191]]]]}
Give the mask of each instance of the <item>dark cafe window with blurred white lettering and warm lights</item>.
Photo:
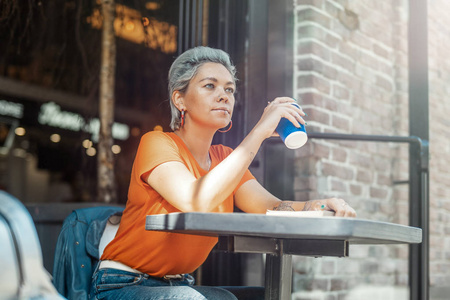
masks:
{"type": "MultiPolygon", "coordinates": [[[[0,10],[0,188],[24,202],[96,201],[100,1],[8,1],[0,10]]],[[[116,1],[121,203],[140,136],[169,130],[178,11],[179,1],[116,1]]]]}

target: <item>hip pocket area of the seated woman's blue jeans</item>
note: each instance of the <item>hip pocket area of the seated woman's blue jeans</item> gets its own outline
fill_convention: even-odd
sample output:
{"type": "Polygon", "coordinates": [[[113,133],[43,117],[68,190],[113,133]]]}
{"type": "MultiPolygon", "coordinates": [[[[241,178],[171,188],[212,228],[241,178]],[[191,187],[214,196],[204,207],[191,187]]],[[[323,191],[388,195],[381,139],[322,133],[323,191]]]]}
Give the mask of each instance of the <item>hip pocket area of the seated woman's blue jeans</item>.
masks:
{"type": "Polygon", "coordinates": [[[100,271],[95,282],[95,290],[97,293],[120,289],[126,286],[138,285],[144,280],[141,274],[133,274],[125,271],[100,271]]]}

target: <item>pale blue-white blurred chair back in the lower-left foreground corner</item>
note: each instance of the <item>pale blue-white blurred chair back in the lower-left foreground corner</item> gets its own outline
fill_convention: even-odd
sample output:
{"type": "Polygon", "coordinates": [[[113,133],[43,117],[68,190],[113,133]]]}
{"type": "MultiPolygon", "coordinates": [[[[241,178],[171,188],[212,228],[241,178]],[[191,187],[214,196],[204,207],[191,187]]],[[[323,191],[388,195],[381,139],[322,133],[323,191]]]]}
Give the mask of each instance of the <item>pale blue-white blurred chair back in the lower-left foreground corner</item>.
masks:
{"type": "Polygon", "coordinates": [[[64,299],[44,268],[33,220],[16,198],[0,191],[0,295],[2,299],[64,299]]]}

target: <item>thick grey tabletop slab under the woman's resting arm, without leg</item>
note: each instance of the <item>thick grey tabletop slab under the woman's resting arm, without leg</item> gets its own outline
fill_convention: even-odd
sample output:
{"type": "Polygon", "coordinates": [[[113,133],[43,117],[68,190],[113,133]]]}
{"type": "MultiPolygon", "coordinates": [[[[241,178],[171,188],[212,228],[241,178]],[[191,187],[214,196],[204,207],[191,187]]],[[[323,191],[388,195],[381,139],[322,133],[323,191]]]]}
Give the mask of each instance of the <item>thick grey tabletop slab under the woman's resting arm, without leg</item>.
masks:
{"type": "MultiPolygon", "coordinates": [[[[353,218],[338,217],[318,217],[318,218],[286,218],[279,216],[266,216],[264,214],[245,214],[245,213],[171,213],[167,215],[151,215],[147,216],[146,229],[171,231],[185,234],[196,235],[241,235],[241,236],[262,236],[275,238],[294,238],[293,235],[285,234],[274,228],[271,233],[264,232],[264,227],[257,228],[256,231],[247,230],[249,227],[241,226],[239,230],[229,229],[229,224],[235,225],[237,221],[254,222],[267,221],[268,218],[275,220],[274,226],[283,226],[292,224],[302,224],[308,221],[314,221],[319,228],[313,228],[308,235],[302,238],[314,239],[346,239],[351,244],[358,244],[358,241],[365,240],[364,243],[421,243],[422,230],[416,227],[405,226],[401,224],[387,223],[381,221],[372,221],[353,218]],[[297,220],[293,220],[297,219],[297,220]],[[226,223],[224,223],[224,221],[226,223]],[[331,224],[330,224],[331,222],[331,224]],[[208,224],[208,226],[204,226],[208,224]],[[336,227],[340,225],[340,230],[333,228],[323,228],[320,225],[328,225],[328,227],[336,227]],[[331,226],[330,226],[331,225],[331,226]],[[261,229],[261,230],[259,230],[261,229]],[[344,230],[345,229],[345,230],[344,230]],[[258,231],[259,230],[259,231],[258,231]],[[352,242],[353,240],[353,242],[352,242]]],[[[301,239],[301,238],[299,238],[301,239]]]]}

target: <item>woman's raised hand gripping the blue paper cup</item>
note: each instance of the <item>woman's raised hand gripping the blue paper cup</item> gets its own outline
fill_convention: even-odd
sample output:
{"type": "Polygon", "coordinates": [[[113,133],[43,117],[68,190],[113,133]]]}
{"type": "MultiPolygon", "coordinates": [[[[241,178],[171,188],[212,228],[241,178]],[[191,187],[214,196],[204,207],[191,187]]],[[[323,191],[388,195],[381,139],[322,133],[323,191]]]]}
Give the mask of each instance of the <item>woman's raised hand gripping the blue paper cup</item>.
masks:
{"type": "Polygon", "coordinates": [[[300,127],[300,124],[304,125],[305,120],[302,117],[306,114],[301,108],[292,105],[293,103],[296,101],[289,97],[278,97],[269,102],[253,131],[260,134],[263,139],[277,136],[275,129],[281,118],[288,119],[296,127],[300,127]]]}

